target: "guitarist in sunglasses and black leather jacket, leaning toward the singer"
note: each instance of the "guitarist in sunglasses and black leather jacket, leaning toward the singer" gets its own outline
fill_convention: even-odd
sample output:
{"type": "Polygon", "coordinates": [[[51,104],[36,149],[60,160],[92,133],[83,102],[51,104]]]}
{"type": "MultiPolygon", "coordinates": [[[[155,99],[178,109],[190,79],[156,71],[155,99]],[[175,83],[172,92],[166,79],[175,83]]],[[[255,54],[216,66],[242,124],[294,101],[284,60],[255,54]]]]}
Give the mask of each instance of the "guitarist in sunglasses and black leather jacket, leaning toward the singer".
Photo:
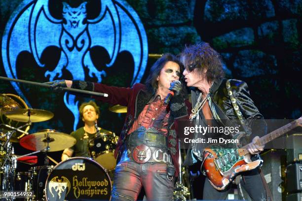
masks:
{"type": "MultiPolygon", "coordinates": [[[[192,87],[192,112],[194,127],[240,128],[241,134],[194,134],[204,142],[213,139],[243,136],[246,149],[226,149],[211,143],[191,143],[184,165],[202,161],[207,179],[203,188],[204,200],[225,200],[232,182],[243,187],[253,201],[268,200],[269,190],[260,174],[262,160],[257,158],[264,150],[258,139],[266,134],[263,115],[255,106],[248,86],[240,80],[224,78],[221,56],[208,43],[188,46],[181,53],[183,72],[188,87],[192,87]],[[210,140],[209,140],[210,139],[210,140]],[[256,159],[253,160],[255,156],[256,159]],[[248,163],[246,163],[248,161],[248,163]],[[266,190],[267,189],[267,190],[266,190]]],[[[211,141],[212,140],[212,141],[211,141]]],[[[244,143],[243,143],[244,145],[244,143]]],[[[238,191],[239,191],[238,190],[238,191]]]]}

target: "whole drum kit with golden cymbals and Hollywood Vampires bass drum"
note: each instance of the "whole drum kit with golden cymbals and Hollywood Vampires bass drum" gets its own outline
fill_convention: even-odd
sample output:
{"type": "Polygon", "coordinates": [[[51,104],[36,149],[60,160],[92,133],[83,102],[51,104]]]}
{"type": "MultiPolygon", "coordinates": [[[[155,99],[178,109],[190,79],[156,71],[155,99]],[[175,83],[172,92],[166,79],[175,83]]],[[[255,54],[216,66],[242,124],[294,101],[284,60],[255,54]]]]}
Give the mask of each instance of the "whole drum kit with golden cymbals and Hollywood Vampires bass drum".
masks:
{"type": "MultiPolygon", "coordinates": [[[[33,192],[33,196],[24,199],[8,198],[5,200],[110,200],[112,178],[108,173],[112,175],[116,166],[113,151],[118,137],[111,132],[110,134],[97,134],[88,141],[88,151],[92,159],[74,157],[58,164],[47,156],[47,152],[61,151],[72,147],[76,144],[76,139],[69,134],[50,129],[34,134],[21,130],[34,122],[47,121],[54,115],[50,111],[28,108],[20,97],[17,99],[22,101],[26,108],[21,108],[20,104],[8,97],[7,94],[0,94],[0,115],[25,123],[18,128],[0,124],[1,127],[9,129],[0,129],[0,191],[33,192]],[[19,137],[13,136],[16,131],[22,134],[19,137]],[[17,156],[14,154],[12,142],[18,142],[22,147],[34,152],[17,156]],[[16,172],[17,162],[37,164],[38,157],[32,155],[39,152],[45,154],[45,166],[31,167],[28,172],[16,172]],[[48,166],[47,158],[57,165],[55,167],[48,166]]],[[[109,110],[121,113],[120,109],[122,109],[122,112],[125,112],[126,108],[121,107],[115,106],[109,110]]]]}

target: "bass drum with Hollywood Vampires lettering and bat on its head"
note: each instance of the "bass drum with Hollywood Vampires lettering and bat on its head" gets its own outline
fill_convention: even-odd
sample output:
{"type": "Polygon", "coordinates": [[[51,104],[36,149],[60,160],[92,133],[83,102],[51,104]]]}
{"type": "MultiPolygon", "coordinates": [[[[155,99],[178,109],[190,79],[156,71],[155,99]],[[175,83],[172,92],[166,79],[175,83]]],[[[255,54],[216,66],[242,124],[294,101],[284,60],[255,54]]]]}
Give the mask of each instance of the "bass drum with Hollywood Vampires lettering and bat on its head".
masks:
{"type": "Polygon", "coordinates": [[[109,201],[112,184],[97,162],[74,157],[56,165],[46,180],[47,201],[109,201]]]}

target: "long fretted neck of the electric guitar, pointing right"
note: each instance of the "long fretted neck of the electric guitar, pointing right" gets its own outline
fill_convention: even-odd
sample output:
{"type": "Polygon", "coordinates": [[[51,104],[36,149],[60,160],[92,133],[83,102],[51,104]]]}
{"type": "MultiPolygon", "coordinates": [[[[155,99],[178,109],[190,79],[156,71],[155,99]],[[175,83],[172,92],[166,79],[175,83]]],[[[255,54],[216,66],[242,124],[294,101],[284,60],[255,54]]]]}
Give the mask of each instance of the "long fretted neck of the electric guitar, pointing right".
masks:
{"type": "MultiPolygon", "coordinates": [[[[296,124],[296,121],[297,120],[294,120],[292,121],[291,123],[289,124],[286,124],[285,126],[269,133],[269,134],[266,134],[264,135],[263,137],[259,138],[259,140],[256,142],[256,144],[258,146],[263,146],[264,144],[266,144],[267,142],[270,142],[272,141],[273,139],[277,138],[277,137],[280,137],[281,135],[283,134],[286,134],[287,132],[289,132],[290,130],[294,129],[297,127],[297,124],[296,124]]],[[[249,151],[247,150],[248,149],[248,144],[241,147],[238,152],[239,152],[239,155],[240,156],[244,156],[246,154],[249,153],[249,151]]]]}

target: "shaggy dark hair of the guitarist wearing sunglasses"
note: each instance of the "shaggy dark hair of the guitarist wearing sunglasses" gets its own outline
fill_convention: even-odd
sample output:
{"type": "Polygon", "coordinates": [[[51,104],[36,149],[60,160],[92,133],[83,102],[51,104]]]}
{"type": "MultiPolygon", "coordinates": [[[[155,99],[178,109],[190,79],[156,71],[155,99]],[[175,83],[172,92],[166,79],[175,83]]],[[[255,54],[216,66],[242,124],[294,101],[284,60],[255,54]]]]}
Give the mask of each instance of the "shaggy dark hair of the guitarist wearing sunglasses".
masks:
{"type": "Polygon", "coordinates": [[[220,54],[206,42],[187,46],[180,57],[189,72],[196,68],[197,73],[202,76],[206,69],[208,82],[217,81],[225,76],[220,54]]]}

